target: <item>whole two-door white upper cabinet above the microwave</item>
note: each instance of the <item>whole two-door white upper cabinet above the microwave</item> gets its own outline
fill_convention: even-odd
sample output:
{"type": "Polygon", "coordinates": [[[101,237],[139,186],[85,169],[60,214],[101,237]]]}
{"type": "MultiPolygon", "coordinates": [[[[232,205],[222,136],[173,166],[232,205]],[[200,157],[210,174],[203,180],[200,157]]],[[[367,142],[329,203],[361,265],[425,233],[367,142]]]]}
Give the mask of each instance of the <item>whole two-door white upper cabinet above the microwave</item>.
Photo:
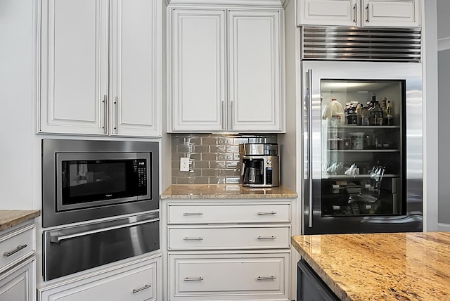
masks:
{"type": "Polygon", "coordinates": [[[160,1],[40,4],[38,132],[160,136],[160,1]]]}

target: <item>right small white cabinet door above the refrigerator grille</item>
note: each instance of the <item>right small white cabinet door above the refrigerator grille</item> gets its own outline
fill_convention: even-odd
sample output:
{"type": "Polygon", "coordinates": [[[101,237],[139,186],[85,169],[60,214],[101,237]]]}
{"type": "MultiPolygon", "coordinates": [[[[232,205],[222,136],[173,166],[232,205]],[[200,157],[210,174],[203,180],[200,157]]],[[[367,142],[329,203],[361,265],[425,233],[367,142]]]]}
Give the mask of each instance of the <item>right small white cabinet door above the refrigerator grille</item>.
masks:
{"type": "Polygon", "coordinates": [[[419,0],[364,0],[364,26],[418,27],[419,0]]]}

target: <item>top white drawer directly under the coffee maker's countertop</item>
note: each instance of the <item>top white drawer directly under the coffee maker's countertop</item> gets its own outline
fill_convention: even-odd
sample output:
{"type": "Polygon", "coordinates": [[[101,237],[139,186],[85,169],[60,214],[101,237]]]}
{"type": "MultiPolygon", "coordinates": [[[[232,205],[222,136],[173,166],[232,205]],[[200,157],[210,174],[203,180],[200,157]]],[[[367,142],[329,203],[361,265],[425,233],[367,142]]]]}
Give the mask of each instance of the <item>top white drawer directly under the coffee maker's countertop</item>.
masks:
{"type": "Polygon", "coordinates": [[[168,206],[168,224],[290,222],[290,203],[168,206]]]}

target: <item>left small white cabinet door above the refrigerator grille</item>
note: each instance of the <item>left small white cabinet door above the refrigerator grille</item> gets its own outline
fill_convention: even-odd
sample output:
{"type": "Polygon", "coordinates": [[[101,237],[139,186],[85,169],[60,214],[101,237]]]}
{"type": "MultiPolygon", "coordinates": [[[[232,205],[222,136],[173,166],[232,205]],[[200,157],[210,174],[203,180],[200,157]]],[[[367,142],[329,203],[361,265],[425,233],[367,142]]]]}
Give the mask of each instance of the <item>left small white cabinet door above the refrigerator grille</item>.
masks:
{"type": "Polygon", "coordinates": [[[300,0],[297,25],[358,25],[358,0],[300,0]]]}

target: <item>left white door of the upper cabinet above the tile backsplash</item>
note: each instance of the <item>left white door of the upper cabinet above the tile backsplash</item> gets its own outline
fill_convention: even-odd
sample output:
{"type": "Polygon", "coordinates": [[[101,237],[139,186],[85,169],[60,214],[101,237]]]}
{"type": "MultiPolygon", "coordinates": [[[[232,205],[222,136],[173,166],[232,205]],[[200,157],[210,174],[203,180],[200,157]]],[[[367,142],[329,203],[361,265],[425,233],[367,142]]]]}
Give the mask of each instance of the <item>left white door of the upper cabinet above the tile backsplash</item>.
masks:
{"type": "Polygon", "coordinates": [[[171,16],[171,129],[224,130],[225,11],[172,8],[171,16]]]}

